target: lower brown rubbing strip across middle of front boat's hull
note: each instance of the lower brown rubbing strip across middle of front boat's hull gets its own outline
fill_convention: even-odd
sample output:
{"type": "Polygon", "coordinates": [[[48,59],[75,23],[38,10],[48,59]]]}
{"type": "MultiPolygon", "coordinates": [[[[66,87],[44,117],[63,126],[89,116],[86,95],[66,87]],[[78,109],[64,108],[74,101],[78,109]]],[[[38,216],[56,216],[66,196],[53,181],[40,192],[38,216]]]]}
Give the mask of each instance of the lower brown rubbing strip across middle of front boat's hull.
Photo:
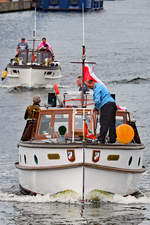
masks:
{"type": "Polygon", "coordinates": [[[58,169],[71,169],[71,168],[77,168],[77,167],[88,167],[92,169],[100,169],[100,170],[108,170],[108,171],[114,171],[114,172],[122,172],[122,173],[144,173],[145,168],[141,169],[123,169],[123,168],[117,168],[117,167],[110,167],[110,166],[101,166],[101,165],[95,165],[91,163],[76,163],[76,164],[70,164],[70,165],[60,165],[60,166],[21,166],[18,162],[15,163],[15,166],[17,169],[21,170],[58,170],[58,169]]]}

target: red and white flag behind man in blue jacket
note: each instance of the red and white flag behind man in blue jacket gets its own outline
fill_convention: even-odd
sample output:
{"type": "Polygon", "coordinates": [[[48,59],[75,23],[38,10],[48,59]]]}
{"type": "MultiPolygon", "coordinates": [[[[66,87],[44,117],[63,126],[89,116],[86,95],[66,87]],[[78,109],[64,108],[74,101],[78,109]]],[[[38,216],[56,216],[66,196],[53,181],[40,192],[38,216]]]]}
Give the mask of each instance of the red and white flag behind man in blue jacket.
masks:
{"type": "Polygon", "coordinates": [[[104,87],[106,87],[105,84],[93,72],[93,67],[91,67],[89,64],[86,63],[84,66],[84,81],[88,81],[90,79],[92,79],[96,83],[100,83],[100,84],[104,85],[104,87]]]}

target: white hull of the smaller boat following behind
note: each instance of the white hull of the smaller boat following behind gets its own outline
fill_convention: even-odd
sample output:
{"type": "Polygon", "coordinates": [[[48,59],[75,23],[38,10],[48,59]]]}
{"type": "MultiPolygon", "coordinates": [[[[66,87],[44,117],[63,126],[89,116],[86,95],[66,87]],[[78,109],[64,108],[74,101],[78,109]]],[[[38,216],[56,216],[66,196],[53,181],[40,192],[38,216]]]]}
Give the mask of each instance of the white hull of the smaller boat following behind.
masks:
{"type": "Polygon", "coordinates": [[[61,79],[60,66],[46,67],[36,65],[8,66],[8,75],[4,86],[49,88],[54,83],[59,85],[61,79]]]}

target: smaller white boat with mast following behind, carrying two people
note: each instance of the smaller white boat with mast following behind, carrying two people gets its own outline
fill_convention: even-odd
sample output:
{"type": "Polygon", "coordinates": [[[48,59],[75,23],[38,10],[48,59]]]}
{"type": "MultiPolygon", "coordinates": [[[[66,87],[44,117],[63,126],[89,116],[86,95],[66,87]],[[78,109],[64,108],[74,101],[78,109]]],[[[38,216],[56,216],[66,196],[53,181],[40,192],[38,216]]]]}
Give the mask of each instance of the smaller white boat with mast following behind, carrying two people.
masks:
{"type": "Polygon", "coordinates": [[[32,48],[19,51],[2,72],[2,87],[50,88],[54,83],[59,85],[62,77],[60,62],[54,60],[50,51],[35,48],[36,9],[33,39],[29,41],[33,42],[32,48]]]}

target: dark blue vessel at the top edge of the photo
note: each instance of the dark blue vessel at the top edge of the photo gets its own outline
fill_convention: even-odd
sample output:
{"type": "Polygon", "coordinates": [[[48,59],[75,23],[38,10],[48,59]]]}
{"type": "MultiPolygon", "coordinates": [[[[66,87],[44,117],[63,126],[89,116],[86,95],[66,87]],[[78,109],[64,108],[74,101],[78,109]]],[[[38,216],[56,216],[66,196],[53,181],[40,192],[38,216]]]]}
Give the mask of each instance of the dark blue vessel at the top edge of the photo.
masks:
{"type": "Polygon", "coordinates": [[[39,10],[82,11],[82,4],[85,11],[103,9],[103,0],[39,0],[35,4],[39,10]]]}

